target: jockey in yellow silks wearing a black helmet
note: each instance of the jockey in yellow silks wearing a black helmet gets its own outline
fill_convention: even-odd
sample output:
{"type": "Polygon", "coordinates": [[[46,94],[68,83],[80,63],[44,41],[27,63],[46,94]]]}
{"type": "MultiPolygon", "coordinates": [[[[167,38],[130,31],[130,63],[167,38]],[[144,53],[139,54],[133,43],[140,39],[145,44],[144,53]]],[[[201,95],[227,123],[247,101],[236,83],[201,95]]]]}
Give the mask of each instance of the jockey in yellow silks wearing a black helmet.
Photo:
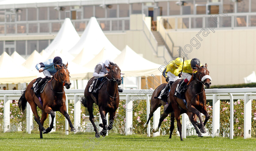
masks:
{"type": "Polygon", "coordinates": [[[193,70],[197,69],[196,65],[198,65],[199,67],[203,66],[200,63],[199,59],[193,58],[191,60],[185,60],[184,65],[181,64],[178,69],[174,70],[175,76],[179,76],[179,77],[182,76],[182,78],[184,79],[184,81],[182,81],[182,83],[180,84],[180,87],[177,89],[178,93],[180,93],[183,86],[190,81],[190,79],[192,77],[193,70]],[[183,70],[182,70],[182,67],[183,67],[183,70]],[[181,70],[182,70],[182,74],[180,73],[181,70]]]}

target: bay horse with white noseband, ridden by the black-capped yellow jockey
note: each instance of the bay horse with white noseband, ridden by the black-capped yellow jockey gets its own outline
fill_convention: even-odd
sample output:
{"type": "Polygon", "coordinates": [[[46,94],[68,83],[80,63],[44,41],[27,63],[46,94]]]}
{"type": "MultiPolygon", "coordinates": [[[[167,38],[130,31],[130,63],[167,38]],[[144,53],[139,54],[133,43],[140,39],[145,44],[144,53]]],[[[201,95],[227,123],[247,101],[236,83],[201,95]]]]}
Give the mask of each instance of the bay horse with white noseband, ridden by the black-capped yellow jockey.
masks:
{"type": "MultiPolygon", "coordinates": [[[[206,108],[206,96],[204,91],[204,85],[206,88],[210,88],[212,78],[209,76],[209,71],[207,69],[207,64],[205,63],[205,66],[199,67],[196,65],[197,69],[194,71],[197,71],[196,73],[192,74],[192,77],[190,79],[190,82],[188,83],[187,91],[185,92],[185,99],[187,101],[187,105],[185,105],[182,101],[182,99],[179,99],[174,96],[175,89],[177,87],[177,84],[180,83],[181,80],[176,80],[172,86],[170,91],[170,101],[171,105],[174,111],[175,119],[177,121],[177,127],[178,131],[180,133],[180,140],[183,141],[183,137],[181,134],[181,123],[180,123],[180,112],[182,108],[186,111],[186,113],[189,115],[189,118],[191,119],[193,114],[196,114],[199,118],[200,123],[196,123],[198,128],[200,129],[200,132],[206,133],[206,130],[204,128],[204,125],[210,118],[210,115],[207,112],[206,108]],[[193,114],[190,114],[189,112],[192,112],[193,114]],[[204,123],[201,119],[201,113],[205,115],[204,123]]],[[[193,123],[193,122],[192,122],[193,123]]]]}

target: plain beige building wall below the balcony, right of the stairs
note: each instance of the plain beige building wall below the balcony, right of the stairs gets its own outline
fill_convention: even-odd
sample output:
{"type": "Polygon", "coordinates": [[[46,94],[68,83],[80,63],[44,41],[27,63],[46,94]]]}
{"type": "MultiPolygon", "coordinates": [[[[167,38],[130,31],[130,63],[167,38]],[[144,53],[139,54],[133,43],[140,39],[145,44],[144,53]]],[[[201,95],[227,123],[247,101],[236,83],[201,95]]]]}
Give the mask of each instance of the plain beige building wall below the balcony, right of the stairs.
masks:
{"type": "MultiPolygon", "coordinates": [[[[199,31],[175,31],[169,35],[174,45],[184,50],[199,31]]],[[[208,36],[200,36],[200,48],[192,46],[192,51],[187,53],[188,58],[197,57],[202,64],[207,63],[212,85],[244,83],[244,77],[256,70],[256,29],[209,32],[208,36]]]]}

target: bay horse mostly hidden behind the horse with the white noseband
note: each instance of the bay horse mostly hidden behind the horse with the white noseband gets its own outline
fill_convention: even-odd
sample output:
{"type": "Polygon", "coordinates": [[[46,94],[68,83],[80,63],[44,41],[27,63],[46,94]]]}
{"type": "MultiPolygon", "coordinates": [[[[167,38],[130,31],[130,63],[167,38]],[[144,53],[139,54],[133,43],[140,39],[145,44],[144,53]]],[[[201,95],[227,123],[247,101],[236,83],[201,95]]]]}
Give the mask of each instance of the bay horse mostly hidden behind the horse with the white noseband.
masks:
{"type": "MultiPolygon", "coordinates": [[[[143,127],[144,127],[144,129],[146,129],[148,127],[149,120],[153,116],[156,109],[158,107],[163,106],[164,107],[164,113],[160,116],[158,127],[156,129],[153,129],[153,133],[158,132],[163,120],[168,116],[168,114],[171,113],[171,115],[170,115],[171,126],[170,126],[170,136],[169,136],[169,139],[171,139],[172,138],[172,132],[174,130],[174,112],[173,112],[173,109],[172,109],[172,105],[170,103],[170,98],[169,97],[167,98],[167,103],[169,105],[166,102],[162,101],[161,99],[155,98],[162,91],[162,89],[166,86],[166,84],[168,84],[168,83],[164,83],[164,84],[159,85],[155,89],[155,91],[153,92],[153,94],[151,96],[151,100],[150,100],[151,107],[150,107],[149,117],[148,117],[147,122],[143,125],[143,127]]],[[[180,114],[183,114],[183,113],[186,113],[186,110],[182,109],[180,114]]],[[[192,121],[191,123],[194,126],[194,128],[195,128],[195,130],[198,134],[198,137],[203,137],[203,135],[201,134],[201,132],[197,129],[197,126],[195,125],[197,123],[195,114],[193,114],[192,116],[190,115],[192,113],[189,112],[188,114],[189,114],[189,117],[192,117],[192,119],[190,119],[190,121],[192,121]]]]}

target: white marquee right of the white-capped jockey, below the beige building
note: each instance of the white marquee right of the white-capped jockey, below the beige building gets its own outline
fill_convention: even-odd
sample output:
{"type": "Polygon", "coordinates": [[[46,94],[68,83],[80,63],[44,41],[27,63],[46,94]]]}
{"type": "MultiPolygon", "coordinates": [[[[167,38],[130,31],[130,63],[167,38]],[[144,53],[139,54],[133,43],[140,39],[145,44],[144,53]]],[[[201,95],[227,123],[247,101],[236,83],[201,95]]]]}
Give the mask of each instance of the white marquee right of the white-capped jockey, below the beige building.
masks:
{"type": "Polygon", "coordinates": [[[125,77],[162,74],[162,72],[158,70],[158,68],[161,67],[160,64],[144,59],[127,45],[116,59],[114,59],[114,62],[119,66],[121,73],[123,73],[125,77]]]}

